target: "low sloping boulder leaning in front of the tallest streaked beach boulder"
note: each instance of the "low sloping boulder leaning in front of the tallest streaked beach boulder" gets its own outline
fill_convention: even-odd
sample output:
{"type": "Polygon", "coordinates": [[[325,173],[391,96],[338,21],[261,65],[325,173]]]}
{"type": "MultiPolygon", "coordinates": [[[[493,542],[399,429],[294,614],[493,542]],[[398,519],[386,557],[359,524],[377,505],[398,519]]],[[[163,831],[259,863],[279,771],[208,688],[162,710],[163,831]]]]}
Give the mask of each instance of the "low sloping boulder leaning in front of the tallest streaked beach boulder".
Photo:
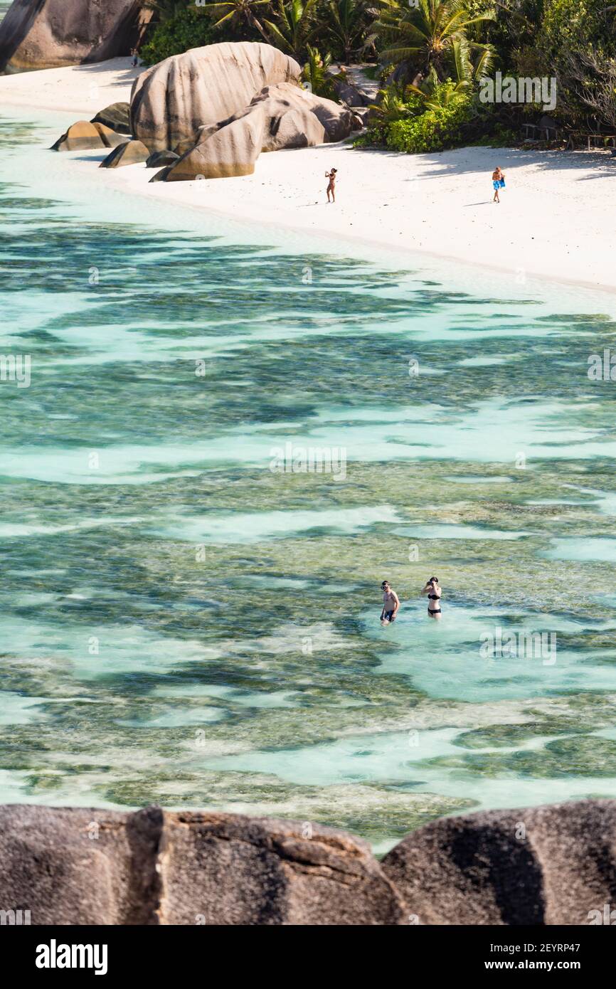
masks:
{"type": "Polygon", "coordinates": [[[311,147],[348,136],[356,118],[346,107],[300,86],[265,86],[249,106],[200,129],[197,144],[166,175],[167,182],[250,175],[261,151],[311,147]]]}

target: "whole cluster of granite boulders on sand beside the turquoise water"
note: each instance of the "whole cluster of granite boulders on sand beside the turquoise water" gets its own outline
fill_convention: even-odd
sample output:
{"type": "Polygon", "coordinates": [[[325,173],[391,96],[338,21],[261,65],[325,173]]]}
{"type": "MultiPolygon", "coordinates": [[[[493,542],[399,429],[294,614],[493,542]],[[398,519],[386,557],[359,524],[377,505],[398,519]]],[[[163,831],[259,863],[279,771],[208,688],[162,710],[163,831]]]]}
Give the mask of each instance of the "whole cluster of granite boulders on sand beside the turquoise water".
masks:
{"type": "Polygon", "coordinates": [[[130,107],[114,104],[89,124],[78,121],[53,150],[112,147],[101,167],[145,161],[161,168],[156,182],[249,175],[262,151],[342,140],[361,128],[353,111],[314,96],[300,76],[298,63],[272,45],[192,48],[135,79],[130,107]],[[107,141],[101,126],[118,139],[107,141]]]}

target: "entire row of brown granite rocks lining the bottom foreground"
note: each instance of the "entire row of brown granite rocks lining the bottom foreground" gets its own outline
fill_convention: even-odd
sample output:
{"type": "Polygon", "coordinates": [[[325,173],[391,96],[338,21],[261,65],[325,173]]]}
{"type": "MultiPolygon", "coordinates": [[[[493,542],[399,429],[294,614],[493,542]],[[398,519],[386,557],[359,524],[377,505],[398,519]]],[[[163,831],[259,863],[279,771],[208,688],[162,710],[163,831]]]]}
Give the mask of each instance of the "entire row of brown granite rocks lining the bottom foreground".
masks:
{"type": "Polygon", "coordinates": [[[378,862],[308,822],[0,808],[0,900],[35,925],[585,925],[614,896],[616,801],[441,818],[378,862]]]}

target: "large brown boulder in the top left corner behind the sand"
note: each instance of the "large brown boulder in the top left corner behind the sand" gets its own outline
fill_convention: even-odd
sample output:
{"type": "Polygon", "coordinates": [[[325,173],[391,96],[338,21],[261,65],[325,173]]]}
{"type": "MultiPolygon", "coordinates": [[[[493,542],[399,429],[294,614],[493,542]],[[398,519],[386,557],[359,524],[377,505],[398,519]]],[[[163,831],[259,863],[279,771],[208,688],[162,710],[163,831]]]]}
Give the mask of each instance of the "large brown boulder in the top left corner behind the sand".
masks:
{"type": "Polygon", "coordinates": [[[150,18],[141,0],[14,0],[0,24],[0,72],[129,54],[150,18]]]}

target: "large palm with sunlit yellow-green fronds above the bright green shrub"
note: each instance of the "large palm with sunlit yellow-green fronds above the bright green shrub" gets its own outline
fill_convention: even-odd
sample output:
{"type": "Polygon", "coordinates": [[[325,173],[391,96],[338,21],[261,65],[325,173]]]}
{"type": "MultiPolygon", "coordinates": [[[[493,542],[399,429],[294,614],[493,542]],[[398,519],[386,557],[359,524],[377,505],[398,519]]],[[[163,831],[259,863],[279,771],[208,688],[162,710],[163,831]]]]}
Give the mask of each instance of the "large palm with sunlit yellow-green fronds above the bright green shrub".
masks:
{"type": "MultiPolygon", "coordinates": [[[[454,44],[467,41],[467,29],[494,20],[491,11],[473,17],[467,0],[417,0],[416,7],[408,7],[404,0],[379,0],[379,3],[384,9],[374,29],[379,38],[391,44],[382,51],[382,57],[393,62],[412,58],[423,64],[426,74],[434,65],[439,76],[454,44]]],[[[485,48],[477,43],[467,44],[485,48]]]]}

